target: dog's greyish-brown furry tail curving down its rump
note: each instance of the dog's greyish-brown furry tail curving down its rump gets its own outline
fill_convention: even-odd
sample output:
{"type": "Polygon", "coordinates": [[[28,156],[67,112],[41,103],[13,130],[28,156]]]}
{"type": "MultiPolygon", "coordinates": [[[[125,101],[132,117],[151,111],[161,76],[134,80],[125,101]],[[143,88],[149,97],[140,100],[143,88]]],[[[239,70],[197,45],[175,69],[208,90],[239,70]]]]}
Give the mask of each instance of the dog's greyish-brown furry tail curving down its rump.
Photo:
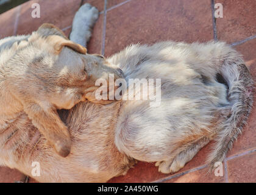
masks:
{"type": "Polygon", "coordinates": [[[219,74],[226,80],[229,88],[227,97],[231,105],[231,112],[217,133],[214,150],[208,157],[211,168],[216,161],[223,161],[226,157],[233,141],[240,135],[246,124],[254,101],[254,82],[243,59],[234,49],[227,50],[229,52],[222,55],[221,67],[218,68],[219,74]]]}

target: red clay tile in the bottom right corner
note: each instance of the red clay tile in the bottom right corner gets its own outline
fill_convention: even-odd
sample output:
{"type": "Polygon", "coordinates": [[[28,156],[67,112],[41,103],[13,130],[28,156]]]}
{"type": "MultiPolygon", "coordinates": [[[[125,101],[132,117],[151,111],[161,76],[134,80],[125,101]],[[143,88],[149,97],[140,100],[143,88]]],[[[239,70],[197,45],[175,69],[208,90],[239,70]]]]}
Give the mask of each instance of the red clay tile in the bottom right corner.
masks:
{"type": "Polygon", "coordinates": [[[256,182],[256,152],[227,161],[229,182],[256,182]]]}

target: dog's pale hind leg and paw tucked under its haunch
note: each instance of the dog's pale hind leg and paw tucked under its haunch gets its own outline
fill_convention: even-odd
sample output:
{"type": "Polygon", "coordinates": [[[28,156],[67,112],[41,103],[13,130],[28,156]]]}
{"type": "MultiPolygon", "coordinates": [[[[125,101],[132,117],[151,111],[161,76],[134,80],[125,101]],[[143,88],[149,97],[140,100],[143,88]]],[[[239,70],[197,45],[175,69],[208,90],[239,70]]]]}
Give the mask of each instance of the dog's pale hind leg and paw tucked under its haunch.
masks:
{"type": "Polygon", "coordinates": [[[201,150],[210,141],[209,138],[203,137],[192,143],[184,151],[180,152],[174,159],[166,161],[158,161],[155,166],[158,166],[158,171],[163,173],[177,172],[182,169],[185,164],[190,161],[198,151],[201,150]]]}

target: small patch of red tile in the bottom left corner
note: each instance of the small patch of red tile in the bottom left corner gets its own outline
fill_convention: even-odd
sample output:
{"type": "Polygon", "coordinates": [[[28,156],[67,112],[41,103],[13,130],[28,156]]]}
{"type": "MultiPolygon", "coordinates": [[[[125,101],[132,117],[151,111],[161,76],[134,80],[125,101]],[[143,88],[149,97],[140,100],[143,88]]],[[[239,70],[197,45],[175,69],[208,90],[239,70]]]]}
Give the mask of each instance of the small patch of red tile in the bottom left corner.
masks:
{"type": "Polygon", "coordinates": [[[0,167],[0,183],[13,183],[24,180],[24,174],[16,169],[0,167]]]}

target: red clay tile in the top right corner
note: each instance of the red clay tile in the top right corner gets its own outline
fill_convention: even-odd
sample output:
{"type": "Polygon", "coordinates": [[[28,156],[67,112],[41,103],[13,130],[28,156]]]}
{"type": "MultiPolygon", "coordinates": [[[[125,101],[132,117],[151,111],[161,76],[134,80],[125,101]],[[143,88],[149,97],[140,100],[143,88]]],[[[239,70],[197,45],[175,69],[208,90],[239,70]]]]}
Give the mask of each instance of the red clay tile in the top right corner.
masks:
{"type": "Polygon", "coordinates": [[[256,34],[255,0],[218,0],[223,5],[223,18],[216,19],[219,40],[233,43],[256,34]]]}

